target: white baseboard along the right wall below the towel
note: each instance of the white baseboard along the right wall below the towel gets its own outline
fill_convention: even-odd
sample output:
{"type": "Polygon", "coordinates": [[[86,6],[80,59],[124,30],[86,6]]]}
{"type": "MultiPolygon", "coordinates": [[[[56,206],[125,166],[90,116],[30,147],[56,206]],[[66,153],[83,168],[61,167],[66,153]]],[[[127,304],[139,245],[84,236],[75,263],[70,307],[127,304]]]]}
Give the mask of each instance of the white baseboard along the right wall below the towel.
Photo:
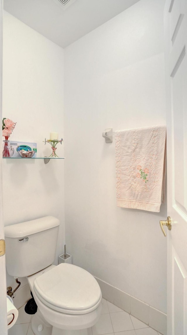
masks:
{"type": "Polygon", "coordinates": [[[167,315],[134,296],[95,277],[107,299],[163,335],[167,335],[167,315]]]}

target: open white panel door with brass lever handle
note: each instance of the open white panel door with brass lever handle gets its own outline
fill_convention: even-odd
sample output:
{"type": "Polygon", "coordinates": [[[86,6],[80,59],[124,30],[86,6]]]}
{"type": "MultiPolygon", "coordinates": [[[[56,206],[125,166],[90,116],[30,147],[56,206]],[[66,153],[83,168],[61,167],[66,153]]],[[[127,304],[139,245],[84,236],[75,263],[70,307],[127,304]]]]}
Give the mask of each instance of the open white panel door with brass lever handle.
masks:
{"type": "MultiPolygon", "coordinates": [[[[187,335],[187,0],[166,0],[168,335],[187,335]]],[[[166,228],[167,229],[167,228],[166,228]]]]}

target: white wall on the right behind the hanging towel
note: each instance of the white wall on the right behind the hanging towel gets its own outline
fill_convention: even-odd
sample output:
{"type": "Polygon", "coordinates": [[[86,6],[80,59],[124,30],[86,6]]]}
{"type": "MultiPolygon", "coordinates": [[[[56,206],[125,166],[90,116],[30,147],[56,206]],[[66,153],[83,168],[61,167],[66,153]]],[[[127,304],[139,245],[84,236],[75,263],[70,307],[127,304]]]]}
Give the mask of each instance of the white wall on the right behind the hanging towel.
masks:
{"type": "Polygon", "coordinates": [[[65,49],[67,252],[96,277],[166,312],[160,213],[116,206],[114,130],[165,124],[162,0],[142,0],[65,49]]]}

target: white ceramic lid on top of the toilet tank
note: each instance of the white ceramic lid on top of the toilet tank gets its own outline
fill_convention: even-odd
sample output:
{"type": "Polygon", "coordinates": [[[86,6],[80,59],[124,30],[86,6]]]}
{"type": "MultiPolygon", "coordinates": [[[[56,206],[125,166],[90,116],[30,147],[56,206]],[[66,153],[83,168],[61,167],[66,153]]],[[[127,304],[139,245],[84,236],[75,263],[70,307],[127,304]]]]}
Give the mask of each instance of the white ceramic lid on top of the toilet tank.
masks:
{"type": "Polygon", "coordinates": [[[37,232],[59,226],[60,221],[54,216],[44,216],[39,219],[5,226],[5,237],[20,238],[37,232]]]}

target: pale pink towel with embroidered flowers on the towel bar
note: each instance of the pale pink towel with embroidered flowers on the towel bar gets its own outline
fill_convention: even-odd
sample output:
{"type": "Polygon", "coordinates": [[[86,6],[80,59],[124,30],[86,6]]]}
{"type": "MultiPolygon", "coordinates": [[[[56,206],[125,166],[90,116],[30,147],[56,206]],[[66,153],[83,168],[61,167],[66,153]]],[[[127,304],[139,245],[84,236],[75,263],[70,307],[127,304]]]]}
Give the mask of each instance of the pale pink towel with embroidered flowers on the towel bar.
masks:
{"type": "Polygon", "coordinates": [[[159,212],[165,201],[166,126],[115,132],[117,206],[159,212]]]}

